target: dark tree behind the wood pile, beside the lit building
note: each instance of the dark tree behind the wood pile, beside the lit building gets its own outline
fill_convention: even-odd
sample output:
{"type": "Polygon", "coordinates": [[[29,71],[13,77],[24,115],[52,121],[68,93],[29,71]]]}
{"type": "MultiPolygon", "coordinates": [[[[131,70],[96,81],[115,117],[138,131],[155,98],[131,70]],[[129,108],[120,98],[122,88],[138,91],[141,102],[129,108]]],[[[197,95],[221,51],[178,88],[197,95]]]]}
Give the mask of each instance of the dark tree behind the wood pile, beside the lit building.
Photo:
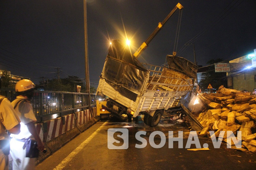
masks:
{"type": "Polygon", "coordinates": [[[199,83],[199,86],[203,91],[205,91],[209,84],[212,85],[212,88],[217,89],[224,85],[227,87],[227,75],[226,72],[217,72],[215,73],[215,65],[214,63],[222,62],[223,59],[211,59],[207,62],[209,64],[209,69],[207,72],[203,73],[206,78],[202,79],[199,83]]]}

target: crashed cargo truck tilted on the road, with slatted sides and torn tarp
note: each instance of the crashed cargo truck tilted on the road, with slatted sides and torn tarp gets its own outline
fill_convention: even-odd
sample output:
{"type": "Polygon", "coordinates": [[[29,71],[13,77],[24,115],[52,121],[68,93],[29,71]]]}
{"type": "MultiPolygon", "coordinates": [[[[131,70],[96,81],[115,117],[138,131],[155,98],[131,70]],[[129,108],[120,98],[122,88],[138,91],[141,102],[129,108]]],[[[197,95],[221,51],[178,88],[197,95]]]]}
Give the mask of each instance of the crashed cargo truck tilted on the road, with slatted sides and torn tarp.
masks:
{"type": "Polygon", "coordinates": [[[96,91],[98,96],[108,96],[106,105],[101,106],[113,116],[124,120],[127,115],[131,121],[143,114],[145,124],[151,127],[158,125],[164,111],[177,106],[177,99],[192,91],[198,69],[175,55],[166,56],[165,66],[141,63],[137,57],[153,37],[133,55],[127,45],[113,40],[96,91]]]}

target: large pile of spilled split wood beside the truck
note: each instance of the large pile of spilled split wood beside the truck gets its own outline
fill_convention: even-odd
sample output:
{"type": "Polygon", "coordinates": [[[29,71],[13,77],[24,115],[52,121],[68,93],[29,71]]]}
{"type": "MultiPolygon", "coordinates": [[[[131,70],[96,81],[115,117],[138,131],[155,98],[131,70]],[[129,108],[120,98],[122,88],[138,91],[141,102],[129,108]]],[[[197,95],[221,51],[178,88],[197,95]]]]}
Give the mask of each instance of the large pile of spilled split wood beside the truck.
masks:
{"type": "MultiPolygon", "coordinates": [[[[216,137],[221,131],[233,131],[235,135],[241,131],[242,147],[256,153],[256,96],[221,86],[215,94],[198,97],[207,105],[197,117],[204,127],[200,136],[210,136],[209,131],[214,131],[216,137]]],[[[223,141],[227,142],[226,132],[223,141]]]]}

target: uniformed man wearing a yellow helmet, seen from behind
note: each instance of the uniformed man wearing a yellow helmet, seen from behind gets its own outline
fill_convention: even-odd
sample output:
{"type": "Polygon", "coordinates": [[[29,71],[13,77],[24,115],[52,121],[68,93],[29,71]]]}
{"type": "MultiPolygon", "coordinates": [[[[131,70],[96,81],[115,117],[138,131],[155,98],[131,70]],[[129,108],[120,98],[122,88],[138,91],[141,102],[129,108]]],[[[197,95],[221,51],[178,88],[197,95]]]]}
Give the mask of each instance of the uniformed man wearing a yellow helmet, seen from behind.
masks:
{"type": "Polygon", "coordinates": [[[35,139],[38,144],[38,150],[44,150],[44,144],[41,141],[36,128],[36,117],[33,112],[30,99],[33,96],[35,85],[28,79],[22,79],[15,85],[17,93],[16,99],[12,102],[17,115],[20,118],[20,134],[13,135],[11,140],[11,156],[13,170],[34,170],[35,158],[26,157],[26,149],[23,146],[27,139],[35,139]]]}

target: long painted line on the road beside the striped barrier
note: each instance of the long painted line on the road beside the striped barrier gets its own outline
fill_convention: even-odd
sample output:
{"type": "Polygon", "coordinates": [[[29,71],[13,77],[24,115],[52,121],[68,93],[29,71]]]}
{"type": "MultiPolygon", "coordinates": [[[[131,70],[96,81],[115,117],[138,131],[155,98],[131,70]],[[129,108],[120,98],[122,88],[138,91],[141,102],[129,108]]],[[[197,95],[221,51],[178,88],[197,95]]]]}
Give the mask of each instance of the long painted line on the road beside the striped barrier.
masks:
{"type": "Polygon", "coordinates": [[[58,164],[53,170],[62,170],[104,127],[107,122],[103,123],[91,136],[89,136],[83,143],[81,143],[75,150],[73,150],[65,159],[58,164]]]}

